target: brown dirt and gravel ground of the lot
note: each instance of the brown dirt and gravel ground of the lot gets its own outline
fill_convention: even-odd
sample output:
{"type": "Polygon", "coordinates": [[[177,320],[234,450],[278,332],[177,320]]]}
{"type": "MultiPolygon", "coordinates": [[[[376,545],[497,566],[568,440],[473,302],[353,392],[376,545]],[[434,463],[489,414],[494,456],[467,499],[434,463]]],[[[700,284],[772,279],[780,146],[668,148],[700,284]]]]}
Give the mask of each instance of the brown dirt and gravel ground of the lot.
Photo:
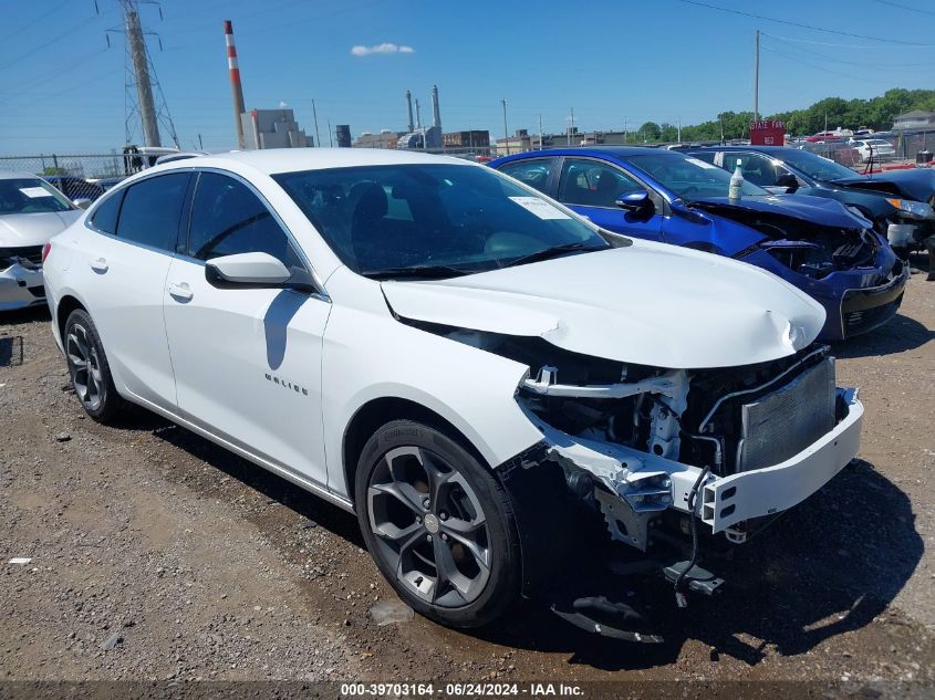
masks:
{"type": "Polygon", "coordinates": [[[472,635],[376,626],[351,515],[143,411],[86,419],[41,311],[0,325],[0,678],[935,679],[935,282],[835,348],[861,459],[755,539],[741,592],[612,642],[527,602],[472,635]],[[31,557],[24,565],[11,557],[31,557]]]}

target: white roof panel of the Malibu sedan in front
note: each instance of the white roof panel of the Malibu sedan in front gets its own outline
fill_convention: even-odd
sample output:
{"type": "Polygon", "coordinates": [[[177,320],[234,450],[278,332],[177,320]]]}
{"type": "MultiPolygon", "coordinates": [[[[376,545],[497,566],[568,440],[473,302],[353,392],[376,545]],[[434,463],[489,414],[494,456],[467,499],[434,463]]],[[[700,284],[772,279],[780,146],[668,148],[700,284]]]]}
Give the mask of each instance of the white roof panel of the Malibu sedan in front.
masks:
{"type": "Polygon", "coordinates": [[[197,158],[183,158],[155,166],[145,170],[145,173],[187,169],[191,167],[232,167],[233,169],[238,169],[237,166],[240,165],[267,175],[274,175],[277,173],[297,173],[325,168],[432,163],[477,166],[477,164],[471,164],[463,158],[391,148],[269,148],[263,150],[237,150],[198,156],[197,158]]]}

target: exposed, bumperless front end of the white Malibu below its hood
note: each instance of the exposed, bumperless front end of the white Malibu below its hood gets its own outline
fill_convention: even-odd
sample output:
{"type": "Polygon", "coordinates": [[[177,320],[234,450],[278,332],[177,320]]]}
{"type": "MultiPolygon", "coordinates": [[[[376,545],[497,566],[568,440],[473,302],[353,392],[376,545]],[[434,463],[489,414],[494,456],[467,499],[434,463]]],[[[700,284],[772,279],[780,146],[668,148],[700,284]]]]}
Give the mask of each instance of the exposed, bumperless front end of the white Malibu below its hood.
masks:
{"type": "Polygon", "coordinates": [[[863,407],[835,386],[824,345],[685,370],[537,337],[416,325],[530,367],[516,400],[542,443],[523,467],[558,464],[571,497],[603,519],[612,540],[658,563],[681,603],[688,589],[710,594],[723,583],[699,567],[699,534],[744,543],[755,521],[800,503],[858,452],[863,407]]]}

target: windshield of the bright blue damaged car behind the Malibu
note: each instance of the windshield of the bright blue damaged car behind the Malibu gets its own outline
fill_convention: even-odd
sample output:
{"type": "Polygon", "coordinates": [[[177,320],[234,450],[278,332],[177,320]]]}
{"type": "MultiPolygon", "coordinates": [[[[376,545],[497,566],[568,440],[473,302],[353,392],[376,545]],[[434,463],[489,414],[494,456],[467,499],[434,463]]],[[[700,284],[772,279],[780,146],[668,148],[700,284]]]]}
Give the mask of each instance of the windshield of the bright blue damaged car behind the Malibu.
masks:
{"type": "MultiPolygon", "coordinates": [[[[671,150],[627,156],[626,161],[652,176],[686,202],[709,197],[727,197],[731,174],[698,158],[671,150]]],[[[768,191],[744,181],[741,195],[769,195],[768,191]]]]}

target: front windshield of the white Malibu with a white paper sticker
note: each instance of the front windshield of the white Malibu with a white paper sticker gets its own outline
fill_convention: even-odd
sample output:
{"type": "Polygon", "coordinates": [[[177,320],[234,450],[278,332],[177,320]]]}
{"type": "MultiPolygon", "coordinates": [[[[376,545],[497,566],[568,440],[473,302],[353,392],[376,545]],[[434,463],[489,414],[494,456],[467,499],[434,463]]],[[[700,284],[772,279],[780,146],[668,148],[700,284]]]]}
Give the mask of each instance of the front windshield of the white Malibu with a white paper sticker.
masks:
{"type": "Polygon", "coordinates": [[[451,164],[273,176],[352,270],[455,276],[609,248],[591,227],[495,170],[451,164]],[[549,257],[549,255],[544,255],[549,257]]]}

